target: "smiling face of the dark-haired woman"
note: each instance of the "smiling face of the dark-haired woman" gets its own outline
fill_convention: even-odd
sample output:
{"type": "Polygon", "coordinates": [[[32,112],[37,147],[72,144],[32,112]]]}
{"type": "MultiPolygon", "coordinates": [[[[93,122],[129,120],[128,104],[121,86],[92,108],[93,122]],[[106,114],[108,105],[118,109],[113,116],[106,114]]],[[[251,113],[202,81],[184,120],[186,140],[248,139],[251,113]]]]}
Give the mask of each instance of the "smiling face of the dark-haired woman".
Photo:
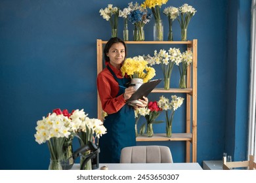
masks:
{"type": "Polygon", "coordinates": [[[112,44],[106,55],[110,58],[110,64],[120,69],[120,65],[125,59],[125,46],[121,42],[116,42],[112,44]]]}

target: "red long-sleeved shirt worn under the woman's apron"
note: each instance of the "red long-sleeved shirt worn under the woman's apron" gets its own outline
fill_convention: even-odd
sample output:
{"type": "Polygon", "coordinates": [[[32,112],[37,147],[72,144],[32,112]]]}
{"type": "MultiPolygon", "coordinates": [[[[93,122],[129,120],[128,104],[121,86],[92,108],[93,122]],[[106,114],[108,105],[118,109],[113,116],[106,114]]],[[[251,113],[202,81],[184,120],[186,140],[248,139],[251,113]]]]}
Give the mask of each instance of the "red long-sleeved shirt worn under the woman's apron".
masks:
{"type": "MultiPolygon", "coordinates": [[[[110,66],[112,71],[116,74],[117,78],[123,78],[119,69],[116,69],[116,67],[108,62],[106,65],[110,66]]],[[[115,80],[114,76],[112,76],[107,67],[98,73],[97,88],[102,109],[107,114],[113,114],[125,105],[125,99],[123,98],[123,95],[116,97],[117,93],[119,92],[118,82],[115,80]]]]}

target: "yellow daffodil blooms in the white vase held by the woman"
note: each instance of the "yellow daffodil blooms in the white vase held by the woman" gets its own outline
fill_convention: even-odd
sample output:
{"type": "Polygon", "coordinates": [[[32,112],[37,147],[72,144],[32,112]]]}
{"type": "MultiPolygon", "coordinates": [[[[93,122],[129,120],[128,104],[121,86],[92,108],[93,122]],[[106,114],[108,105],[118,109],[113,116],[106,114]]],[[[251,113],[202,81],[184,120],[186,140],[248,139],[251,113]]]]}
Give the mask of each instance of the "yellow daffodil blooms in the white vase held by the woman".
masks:
{"type": "Polygon", "coordinates": [[[148,67],[148,61],[145,61],[142,56],[127,58],[121,67],[122,75],[128,75],[131,78],[141,78],[143,82],[148,82],[156,75],[156,70],[153,67],[148,67]]]}

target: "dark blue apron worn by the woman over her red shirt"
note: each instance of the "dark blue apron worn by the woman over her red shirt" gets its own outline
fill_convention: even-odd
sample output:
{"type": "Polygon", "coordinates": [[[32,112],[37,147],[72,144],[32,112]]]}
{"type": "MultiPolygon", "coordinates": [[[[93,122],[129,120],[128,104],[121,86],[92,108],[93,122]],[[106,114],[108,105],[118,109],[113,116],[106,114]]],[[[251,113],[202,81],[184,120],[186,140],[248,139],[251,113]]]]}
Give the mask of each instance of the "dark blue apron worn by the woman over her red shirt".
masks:
{"type": "MultiPolygon", "coordinates": [[[[114,76],[120,86],[125,86],[129,78],[117,78],[112,69],[108,70],[114,76]]],[[[119,87],[117,96],[125,93],[125,88],[119,87]]],[[[127,146],[136,145],[135,137],[135,113],[134,108],[125,104],[114,114],[108,114],[104,120],[104,127],[107,133],[99,139],[100,163],[119,163],[121,149],[127,146]]]]}

